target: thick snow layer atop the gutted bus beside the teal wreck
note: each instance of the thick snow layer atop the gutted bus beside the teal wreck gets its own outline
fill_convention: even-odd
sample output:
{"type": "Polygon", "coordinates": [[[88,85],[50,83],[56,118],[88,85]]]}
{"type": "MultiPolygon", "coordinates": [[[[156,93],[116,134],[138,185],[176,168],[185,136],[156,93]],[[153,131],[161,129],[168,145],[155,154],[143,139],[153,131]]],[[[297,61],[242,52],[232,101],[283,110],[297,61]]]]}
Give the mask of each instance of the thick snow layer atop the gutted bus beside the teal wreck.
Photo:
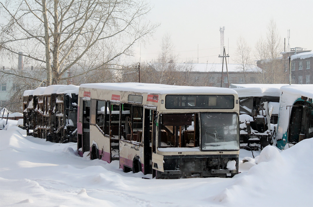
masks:
{"type": "Polygon", "coordinates": [[[239,97],[280,96],[280,87],[288,84],[230,84],[239,97]]]}

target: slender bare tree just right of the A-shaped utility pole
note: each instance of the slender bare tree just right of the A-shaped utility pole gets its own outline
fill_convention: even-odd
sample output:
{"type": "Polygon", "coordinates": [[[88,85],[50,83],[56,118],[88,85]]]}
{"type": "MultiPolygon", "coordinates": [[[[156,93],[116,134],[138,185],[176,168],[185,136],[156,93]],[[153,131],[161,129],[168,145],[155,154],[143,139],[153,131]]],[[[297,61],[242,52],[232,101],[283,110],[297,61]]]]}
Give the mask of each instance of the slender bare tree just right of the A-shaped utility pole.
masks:
{"type": "Polygon", "coordinates": [[[244,73],[244,81],[247,83],[246,73],[251,69],[252,65],[251,48],[241,35],[237,39],[237,50],[235,52],[235,56],[236,58],[234,61],[240,65],[238,69],[244,73]]]}

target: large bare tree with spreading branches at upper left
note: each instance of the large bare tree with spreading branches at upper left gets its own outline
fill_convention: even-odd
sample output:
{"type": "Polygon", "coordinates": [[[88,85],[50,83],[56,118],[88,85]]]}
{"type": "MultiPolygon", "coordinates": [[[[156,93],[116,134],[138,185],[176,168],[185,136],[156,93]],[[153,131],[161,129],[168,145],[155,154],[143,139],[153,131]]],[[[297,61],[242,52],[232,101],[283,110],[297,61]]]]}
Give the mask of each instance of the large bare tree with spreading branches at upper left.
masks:
{"type": "Polygon", "coordinates": [[[47,71],[47,85],[107,68],[119,56],[130,54],[132,45],[158,26],[145,20],[150,8],[140,0],[9,0],[0,4],[5,22],[0,49],[9,55],[23,51],[25,58],[47,71]],[[64,76],[76,64],[87,69],[64,76]]]}

